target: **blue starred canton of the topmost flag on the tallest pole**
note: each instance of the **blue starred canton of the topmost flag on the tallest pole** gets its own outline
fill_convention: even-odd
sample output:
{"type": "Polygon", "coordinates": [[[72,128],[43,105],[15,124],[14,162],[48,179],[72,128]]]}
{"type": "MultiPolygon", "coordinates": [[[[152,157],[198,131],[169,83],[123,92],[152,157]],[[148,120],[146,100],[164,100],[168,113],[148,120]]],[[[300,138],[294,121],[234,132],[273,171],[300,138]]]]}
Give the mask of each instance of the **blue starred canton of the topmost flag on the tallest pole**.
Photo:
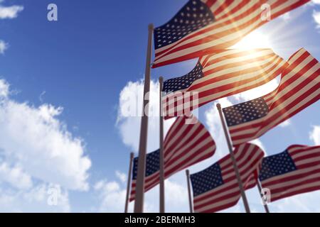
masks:
{"type": "Polygon", "coordinates": [[[213,23],[215,18],[201,0],[190,0],[168,23],[154,29],[154,47],[162,48],[213,23]]]}

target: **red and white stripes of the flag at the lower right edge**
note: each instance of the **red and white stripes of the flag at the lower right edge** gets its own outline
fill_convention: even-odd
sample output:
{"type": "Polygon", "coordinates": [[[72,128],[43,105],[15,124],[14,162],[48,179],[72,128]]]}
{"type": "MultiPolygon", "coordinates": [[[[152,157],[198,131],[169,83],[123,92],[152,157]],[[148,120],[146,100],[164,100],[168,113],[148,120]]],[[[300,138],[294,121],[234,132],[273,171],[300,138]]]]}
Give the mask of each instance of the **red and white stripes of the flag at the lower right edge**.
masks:
{"type": "Polygon", "coordinates": [[[261,182],[270,189],[271,201],[320,189],[320,146],[292,145],[287,150],[297,170],[261,182]]]}

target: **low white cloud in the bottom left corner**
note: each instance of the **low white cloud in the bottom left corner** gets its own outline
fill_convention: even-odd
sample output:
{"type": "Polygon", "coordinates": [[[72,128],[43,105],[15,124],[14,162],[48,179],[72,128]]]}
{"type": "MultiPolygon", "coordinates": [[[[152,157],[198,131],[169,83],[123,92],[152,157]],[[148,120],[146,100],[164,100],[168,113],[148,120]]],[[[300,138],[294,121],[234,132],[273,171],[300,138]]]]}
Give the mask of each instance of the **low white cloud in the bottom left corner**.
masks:
{"type": "Polygon", "coordinates": [[[0,212],[70,212],[68,192],[52,184],[38,184],[22,191],[0,188],[0,212]],[[57,189],[57,203],[51,206],[49,189],[57,189]]]}

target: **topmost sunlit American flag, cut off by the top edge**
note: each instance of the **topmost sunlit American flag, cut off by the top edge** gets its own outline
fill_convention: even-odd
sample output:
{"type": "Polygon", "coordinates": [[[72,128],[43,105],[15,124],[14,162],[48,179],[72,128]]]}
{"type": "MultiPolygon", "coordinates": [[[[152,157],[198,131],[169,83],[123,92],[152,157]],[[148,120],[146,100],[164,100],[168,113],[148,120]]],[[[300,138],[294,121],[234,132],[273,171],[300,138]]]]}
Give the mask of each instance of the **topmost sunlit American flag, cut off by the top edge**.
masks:
{"type": "Polygon", "coordinates": [[[163,26],[154,29],[153,67],[169,65],[230,48],[268,20],[296,9],[309,0],[190,0],[163,26]]]}

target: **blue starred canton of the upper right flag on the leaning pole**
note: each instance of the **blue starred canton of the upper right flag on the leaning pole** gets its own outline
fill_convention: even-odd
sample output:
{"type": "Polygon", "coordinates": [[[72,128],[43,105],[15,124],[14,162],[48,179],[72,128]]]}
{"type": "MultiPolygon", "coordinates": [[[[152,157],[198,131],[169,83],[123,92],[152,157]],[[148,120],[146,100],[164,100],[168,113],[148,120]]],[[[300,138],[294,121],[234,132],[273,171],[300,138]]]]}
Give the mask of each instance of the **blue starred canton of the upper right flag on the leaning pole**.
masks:
{"type": "Polygon", "coordinates": [[[266,116],[268,112],[269,107],[263,98],[246,101],[223,109],[225,121],[227,121],[229,127],[255,121],[266,116]]]}

